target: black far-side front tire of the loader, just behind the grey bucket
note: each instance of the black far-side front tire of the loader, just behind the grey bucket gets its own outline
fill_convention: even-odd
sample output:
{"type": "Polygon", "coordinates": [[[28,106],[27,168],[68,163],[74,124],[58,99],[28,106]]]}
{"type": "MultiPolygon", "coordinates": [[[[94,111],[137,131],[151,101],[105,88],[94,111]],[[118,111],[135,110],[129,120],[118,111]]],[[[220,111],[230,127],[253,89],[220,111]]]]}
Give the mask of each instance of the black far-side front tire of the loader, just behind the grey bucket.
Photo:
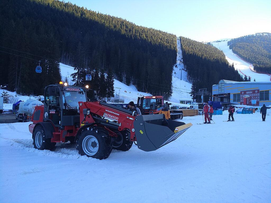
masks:
{"type": "Polygon", "coordinates": [[[122,130],[116,132],[119,137],[117,138],[117,143],[113,143],[113,149],[117,149],[120,151],[128,151],[131,149],[133,142],[130,140],[130,131],[122,130]],[[121,137],[120,137],[121,136],[121,137]]]}

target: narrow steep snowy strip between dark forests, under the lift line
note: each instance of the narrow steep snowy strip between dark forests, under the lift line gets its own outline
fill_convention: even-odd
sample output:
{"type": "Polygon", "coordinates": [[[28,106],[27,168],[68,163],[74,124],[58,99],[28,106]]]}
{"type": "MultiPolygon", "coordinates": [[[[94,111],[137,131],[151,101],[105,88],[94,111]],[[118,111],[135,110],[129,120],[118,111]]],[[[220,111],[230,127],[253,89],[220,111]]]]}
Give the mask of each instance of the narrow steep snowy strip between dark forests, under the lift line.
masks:
{"type": "Polygon", "coordinates": [[[175,66],[173,67],[173,93],[170,102],[180,103],[179,99],[191,99],[190,92],[192,84],[187,82],[187,73],[184,71],[185,67],[182,63],[182,50],[179,40],[177,40],[177,48],[177,68],[175,66]],[[179,61],[181,61],[181,64],[179,61]]]}

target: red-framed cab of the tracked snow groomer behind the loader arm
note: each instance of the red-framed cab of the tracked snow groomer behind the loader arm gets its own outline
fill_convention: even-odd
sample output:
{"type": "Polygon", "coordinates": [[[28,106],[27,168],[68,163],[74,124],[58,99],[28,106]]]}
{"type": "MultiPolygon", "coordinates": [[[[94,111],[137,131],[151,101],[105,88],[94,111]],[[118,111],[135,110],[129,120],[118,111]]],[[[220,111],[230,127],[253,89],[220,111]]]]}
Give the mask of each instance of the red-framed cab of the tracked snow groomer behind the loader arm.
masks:
{"type": "Polygon", "coordinates": [[[137,106],[143,114],[157,114],[162,109],[164,100],[162,96],[138,97],[137,106]]]}

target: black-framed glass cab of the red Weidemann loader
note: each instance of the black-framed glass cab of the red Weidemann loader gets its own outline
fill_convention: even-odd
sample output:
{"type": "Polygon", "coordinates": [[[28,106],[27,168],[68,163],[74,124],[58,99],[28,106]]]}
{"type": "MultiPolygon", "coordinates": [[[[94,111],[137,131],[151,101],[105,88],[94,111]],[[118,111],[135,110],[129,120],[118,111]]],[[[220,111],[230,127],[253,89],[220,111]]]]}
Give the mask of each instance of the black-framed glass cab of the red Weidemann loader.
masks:
{"type": "Polygon", "coordinates": [[[86,102],[86,92],[82,87],[49,85],[44,92],[44,121],[55,126],[79,124],[79,104],[86,102]]]}

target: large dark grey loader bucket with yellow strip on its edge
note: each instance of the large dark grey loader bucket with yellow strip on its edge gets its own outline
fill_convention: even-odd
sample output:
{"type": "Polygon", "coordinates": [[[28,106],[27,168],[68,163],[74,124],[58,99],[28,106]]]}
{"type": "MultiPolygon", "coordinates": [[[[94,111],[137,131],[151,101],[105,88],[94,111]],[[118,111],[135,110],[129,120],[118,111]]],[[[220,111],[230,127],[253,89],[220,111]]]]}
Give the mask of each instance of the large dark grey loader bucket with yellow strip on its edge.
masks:
{"type": "Polygon", "coordinates": [[[192,123],[166,120],[164,114],[137,116],[134,121],[137,147],[146,152],[154,151],[176,140],[191,126],[192,123]]]}

